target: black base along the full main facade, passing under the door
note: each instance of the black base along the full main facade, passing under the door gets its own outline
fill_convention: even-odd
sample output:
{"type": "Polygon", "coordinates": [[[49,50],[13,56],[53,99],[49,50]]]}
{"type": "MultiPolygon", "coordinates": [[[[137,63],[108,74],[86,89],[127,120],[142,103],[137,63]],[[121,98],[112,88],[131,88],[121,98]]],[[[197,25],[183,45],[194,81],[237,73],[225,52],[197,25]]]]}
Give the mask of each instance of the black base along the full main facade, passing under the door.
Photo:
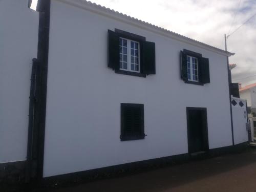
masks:
{"type": "Polygon", "coordinates": [[[97,168],[82,172],[70,173],[65,175],[52,176],[42,179],[42,186],[70,186],[77,183],[86,183],[104,178],[121,177],[140,172],[146,172],[159,167],[166,167],[175,164],[182,164],[189,161],[202,160],[206,158],[217,157],[230,153],[240,153],[250,150],[248,142],[238,145],[214,148],[198,155],[181,154],[121,165],[97,168]]]}

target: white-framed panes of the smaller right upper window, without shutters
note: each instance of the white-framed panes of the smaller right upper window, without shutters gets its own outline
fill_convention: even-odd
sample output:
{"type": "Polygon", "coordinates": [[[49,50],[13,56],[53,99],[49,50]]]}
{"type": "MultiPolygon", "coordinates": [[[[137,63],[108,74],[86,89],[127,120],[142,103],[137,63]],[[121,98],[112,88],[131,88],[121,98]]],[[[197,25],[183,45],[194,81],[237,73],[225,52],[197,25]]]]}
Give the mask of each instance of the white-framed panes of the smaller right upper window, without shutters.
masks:
{"type": "Polygon", "coordinates": [[[187,55],[187,80],[198,82],[198,59],[187,55]]]}

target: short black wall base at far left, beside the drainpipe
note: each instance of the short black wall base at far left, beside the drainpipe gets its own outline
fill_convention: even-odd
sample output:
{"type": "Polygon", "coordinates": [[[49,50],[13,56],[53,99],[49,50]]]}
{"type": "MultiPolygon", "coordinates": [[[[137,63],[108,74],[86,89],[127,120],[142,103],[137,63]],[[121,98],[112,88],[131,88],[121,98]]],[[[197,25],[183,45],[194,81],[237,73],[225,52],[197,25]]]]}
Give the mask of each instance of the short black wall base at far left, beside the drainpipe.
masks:
{"type": "Polygon", "coordinates": [[[26,161],[0,163],[0,184],[25,182],[26,161]]]}

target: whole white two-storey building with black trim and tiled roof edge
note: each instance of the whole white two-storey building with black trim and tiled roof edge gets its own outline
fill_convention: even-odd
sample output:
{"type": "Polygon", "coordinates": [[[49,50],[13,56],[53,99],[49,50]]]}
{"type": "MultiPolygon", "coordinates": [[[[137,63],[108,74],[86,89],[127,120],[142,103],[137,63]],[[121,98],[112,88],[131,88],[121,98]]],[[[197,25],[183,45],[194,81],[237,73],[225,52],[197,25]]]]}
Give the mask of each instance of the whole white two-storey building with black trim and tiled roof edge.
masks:
{"type": "Polygon", "coordinates": [[[232,53],[83,0],[39,1],[38,23],[27,3],[0,2],[2,166],[45,178],[248,140],[233,136],[232,53]]]}

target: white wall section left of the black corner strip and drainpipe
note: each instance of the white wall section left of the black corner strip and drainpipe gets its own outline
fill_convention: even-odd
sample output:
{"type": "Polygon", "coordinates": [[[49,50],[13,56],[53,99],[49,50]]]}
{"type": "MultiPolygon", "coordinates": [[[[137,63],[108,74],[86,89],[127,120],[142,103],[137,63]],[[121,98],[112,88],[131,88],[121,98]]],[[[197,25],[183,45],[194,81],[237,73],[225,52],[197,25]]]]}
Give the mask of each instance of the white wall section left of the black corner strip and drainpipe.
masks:
{"type": "Polygon", "coordinates": [[[27,0],[0,1],[0,163],[26,160],[37,36],[38,13],[27,0]]]}

